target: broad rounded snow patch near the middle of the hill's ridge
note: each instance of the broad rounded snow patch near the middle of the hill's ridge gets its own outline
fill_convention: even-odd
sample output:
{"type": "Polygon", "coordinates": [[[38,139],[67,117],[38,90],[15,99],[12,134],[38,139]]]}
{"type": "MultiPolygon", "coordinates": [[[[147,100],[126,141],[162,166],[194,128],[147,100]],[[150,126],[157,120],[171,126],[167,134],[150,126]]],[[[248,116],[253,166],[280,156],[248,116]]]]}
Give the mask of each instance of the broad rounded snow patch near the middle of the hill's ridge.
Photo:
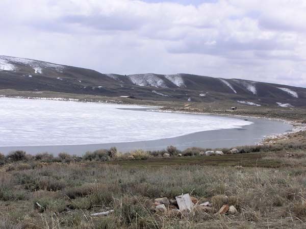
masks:
{"type": "Polygon", "coordinates": [[[155,74],[135,74],[127,75],[131,82],[138,86],[150,86],[157,88],[167,88],[165,81],[155,74]]]}

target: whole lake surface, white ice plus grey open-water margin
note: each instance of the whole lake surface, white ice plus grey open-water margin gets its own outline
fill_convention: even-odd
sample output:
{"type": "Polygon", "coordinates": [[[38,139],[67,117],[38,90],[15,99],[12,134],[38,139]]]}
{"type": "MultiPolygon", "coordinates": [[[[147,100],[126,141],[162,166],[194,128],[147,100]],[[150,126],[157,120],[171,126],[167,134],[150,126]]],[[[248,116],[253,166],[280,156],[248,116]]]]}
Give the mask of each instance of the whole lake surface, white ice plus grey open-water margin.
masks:
{"type": "MultiPolygon", "coordinates": [[[[151,109],[151,108],[147,108],[151,109]]],[[[121,151],[175,145],[232,147],[254,144],[265,135],[291,130],[271,120],[146,111],[145,107],[0,98],[0,151],[29,153],[116,146],[121,151]]]]}

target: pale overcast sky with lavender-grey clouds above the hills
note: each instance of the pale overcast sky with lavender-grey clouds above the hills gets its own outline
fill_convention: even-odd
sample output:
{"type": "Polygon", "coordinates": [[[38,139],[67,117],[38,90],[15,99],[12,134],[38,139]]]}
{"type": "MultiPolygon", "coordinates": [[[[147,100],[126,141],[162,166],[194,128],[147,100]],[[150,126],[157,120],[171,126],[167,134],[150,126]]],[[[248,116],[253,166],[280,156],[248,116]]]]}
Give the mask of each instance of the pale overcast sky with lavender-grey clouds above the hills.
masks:
{"type": "Polygon", "coordinates": [[[0,55],[306,87],[304,0],[0,1],[0,55]]]}

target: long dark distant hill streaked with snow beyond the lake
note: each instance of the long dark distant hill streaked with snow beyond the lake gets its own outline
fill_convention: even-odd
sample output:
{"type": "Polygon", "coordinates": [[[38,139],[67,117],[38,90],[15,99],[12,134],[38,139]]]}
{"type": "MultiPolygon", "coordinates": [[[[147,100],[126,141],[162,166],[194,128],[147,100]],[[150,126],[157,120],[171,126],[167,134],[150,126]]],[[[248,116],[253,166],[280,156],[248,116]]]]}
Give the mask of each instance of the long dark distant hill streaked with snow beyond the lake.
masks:
{"type": "Polygon", "coordinates": [[[56,91],[136,99],[220,101],[249,106],[306,106],[306,88],[192,74],[103,74],[94,70],[0,56],[0,89],[56,91]]]}

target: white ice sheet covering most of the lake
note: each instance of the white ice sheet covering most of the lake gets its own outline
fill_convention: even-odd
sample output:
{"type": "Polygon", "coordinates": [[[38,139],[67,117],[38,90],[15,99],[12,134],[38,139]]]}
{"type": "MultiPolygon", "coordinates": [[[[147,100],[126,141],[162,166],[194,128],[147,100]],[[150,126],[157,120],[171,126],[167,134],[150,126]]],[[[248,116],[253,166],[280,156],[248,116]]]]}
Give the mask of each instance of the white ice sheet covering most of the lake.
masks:
{"type": "Polygon", "coordinates": [[[123,108],[143,107],[2,97],[0,146],[147,141],[252,123],[229,117],[123,108]]]}

